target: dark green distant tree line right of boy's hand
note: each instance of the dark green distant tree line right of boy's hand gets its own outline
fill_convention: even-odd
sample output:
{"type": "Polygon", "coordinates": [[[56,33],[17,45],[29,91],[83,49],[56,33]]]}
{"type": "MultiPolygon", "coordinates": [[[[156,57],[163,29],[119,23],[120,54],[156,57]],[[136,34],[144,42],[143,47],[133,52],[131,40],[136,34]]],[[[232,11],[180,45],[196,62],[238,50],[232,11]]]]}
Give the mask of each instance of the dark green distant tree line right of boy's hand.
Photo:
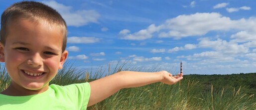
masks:
{"type": "Polygon", "coordinates": [[[199,81],[199,85],[204,88],[205,91],[211,89],[211,86],[216,90],[231,89],[242,87],[248,94],[256,93],[256,73],[240,73],[230,75],[185,75],[184,79],[190,81],[199,81]]]}

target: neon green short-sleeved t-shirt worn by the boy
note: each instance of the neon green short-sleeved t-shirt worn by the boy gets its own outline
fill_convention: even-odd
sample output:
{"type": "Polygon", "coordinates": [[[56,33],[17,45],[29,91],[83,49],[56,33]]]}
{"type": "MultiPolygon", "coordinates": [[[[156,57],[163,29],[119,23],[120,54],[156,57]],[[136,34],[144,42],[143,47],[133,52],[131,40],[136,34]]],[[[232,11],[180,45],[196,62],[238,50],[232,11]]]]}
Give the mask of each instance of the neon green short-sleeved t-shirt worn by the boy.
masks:
{"type": "Polygon", "coordinates": [[[89,83],[81,83],[50,85],[47,91],[31,96],[0,94],[0,110],[86,110],[90,92],[89,83]]]}

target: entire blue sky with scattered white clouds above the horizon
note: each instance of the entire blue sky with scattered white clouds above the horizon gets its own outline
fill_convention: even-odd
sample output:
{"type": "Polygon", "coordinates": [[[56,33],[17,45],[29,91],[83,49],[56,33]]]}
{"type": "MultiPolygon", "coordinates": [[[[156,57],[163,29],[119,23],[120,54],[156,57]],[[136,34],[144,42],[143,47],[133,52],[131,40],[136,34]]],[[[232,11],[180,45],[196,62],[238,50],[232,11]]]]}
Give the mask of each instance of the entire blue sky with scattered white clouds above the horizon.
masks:
{"type": "MultiPolygon", "coordinates": [[[[0,0],[0,12],[21,0],[0,0]]],[[[256,72],[252,0],[38,0],[68,25],[68,59],[81,68],[129,62],[185,74],[256,72]]]]}

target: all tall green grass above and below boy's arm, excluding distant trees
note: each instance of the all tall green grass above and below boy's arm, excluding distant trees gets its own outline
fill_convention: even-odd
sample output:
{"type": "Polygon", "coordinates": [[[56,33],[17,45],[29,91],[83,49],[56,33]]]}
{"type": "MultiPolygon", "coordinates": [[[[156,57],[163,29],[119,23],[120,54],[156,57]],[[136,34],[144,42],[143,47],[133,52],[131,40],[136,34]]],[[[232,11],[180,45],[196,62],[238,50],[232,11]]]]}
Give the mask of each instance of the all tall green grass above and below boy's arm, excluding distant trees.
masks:
{"type": "MultiPolygon", "coordinates": [[[[79,69],[66,62],[50,84],[69,85],[90,82],[119,71],[148,71],[128,63],[109,64],[96,71],[79,69]],[[103,74],[104,73],[104,74],[103,74]]],[[[0,65],[0,91],[10,84],[10,78],[0,65]]],[[[154,83],[118,91],[106,100],[88,107],[87,110],[256,110],[255,94],[247,94],[244,87],[222,88],[211,85],[206,89],[199,81],[184,79],[174,85],[154,83]]]]}

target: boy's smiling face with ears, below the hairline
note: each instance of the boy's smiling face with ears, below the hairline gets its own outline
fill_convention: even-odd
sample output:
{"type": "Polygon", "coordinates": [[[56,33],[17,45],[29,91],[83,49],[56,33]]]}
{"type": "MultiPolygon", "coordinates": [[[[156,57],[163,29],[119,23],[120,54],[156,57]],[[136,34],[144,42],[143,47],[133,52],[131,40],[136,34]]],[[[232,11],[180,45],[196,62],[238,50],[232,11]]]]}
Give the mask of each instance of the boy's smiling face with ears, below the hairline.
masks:
{"type": "Polygon", "coordinates": [[[61,30],[45,21],[13,21],[0,47],[0,61],[5,62],[12,80],[10,87],[46,91],[67,58],[62,43],[61,30]]]}

